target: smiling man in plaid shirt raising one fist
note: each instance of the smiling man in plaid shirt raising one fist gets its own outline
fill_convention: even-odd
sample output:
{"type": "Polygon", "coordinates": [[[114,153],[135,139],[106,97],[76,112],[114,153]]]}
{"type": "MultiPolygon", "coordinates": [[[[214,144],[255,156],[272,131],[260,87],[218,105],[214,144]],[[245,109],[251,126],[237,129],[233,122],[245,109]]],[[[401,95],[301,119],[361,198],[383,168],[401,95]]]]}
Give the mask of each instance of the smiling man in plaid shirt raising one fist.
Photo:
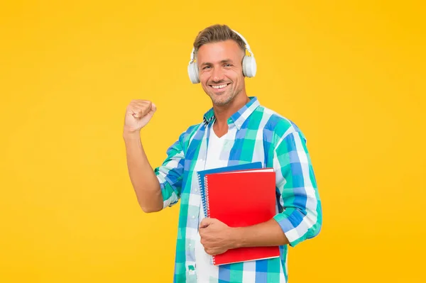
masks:
{"type": "Polygon", "coordinates": [[[210,26],[197,35],[197,72],[190,72],[190,78],[200,81],[212,109],[180,135],[155,170],[139,131],[156,106],[134,100],[126,109],[129,176],[141,209],[155,212],[181,201],[174,282],[287,282],[288,245],[294,247],[320,232],[321,202],[305,137],[294,123],[247,96],[244,75],[252,77],[256,65],[246,59],[243,67],[245,46],[228,26],[210,26]],[[275,170],[276,216],[244,228],[205,218],[197,171],[258,161],[275,170]],[[232,248],[267,245],[279,245],[280,257],[219,267],[209,261],[211,255],[232,248]]]}

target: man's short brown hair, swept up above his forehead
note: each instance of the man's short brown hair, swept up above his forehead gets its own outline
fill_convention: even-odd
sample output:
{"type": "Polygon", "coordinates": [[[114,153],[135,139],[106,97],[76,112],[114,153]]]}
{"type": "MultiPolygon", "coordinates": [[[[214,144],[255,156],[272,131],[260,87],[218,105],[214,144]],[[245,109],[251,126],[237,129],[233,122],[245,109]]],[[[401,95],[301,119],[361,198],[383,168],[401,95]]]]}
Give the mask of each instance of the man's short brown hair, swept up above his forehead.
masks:
{"type": "Polygon", "coordinates": [[[198,49],[204,44],[217,43],[225,40],[234,40],[241,50],[244,51],[244,54],[246,53],[246,43],[244,43],[244,40],[234,33],[229,26],[217,24],[204,28],[204,30],[198,33],[194,41],[195,54],[197,54],[198,49]]]}

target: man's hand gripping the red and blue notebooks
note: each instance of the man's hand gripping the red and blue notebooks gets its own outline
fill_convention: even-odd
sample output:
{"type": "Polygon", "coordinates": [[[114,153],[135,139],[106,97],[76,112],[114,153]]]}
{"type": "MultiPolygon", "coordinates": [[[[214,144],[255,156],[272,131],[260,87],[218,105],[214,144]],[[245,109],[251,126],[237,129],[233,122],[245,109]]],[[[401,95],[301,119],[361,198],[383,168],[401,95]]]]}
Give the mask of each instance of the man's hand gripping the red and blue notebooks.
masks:
{"type": "Polygon", "coordinates": [[[204,218],[200,223],[201,244],[209,255],[219,255],[226,250],[237,248],[238,238],[234,228],[214,219],[204,218]]]}

